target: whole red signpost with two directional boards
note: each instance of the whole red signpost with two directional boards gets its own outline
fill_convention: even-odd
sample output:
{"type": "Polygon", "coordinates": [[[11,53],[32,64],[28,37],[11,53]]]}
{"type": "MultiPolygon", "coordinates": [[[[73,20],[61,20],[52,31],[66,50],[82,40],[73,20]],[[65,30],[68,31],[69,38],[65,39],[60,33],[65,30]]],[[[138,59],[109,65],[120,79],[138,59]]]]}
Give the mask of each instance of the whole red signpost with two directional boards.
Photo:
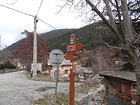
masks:
{"type": "Polygon", "coordinates": [[[74,105],[74,77],[75,77],[75,65],[74,62],[78,60],[78,54],[75,52],[80,51],[83,48],[81,43],[75,44],[75,34],[70,36],[70,45],[67,46],[67,53],[65,59],[70,60],[72,68],[70,69],[70,105],[74,105]]]}

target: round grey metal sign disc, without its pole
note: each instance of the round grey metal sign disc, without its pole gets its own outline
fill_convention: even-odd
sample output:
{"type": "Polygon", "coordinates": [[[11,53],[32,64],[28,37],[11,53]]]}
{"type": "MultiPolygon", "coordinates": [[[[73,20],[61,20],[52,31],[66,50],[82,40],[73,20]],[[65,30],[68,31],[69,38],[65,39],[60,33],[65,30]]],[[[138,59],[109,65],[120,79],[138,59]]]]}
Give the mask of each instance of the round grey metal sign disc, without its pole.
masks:
{"type": "Polygon", "coordinates": [[[49,62],[53,67],[58,68],[64,60],[64,54],[61,50],[54,49],[49,55],[49,62]]]}

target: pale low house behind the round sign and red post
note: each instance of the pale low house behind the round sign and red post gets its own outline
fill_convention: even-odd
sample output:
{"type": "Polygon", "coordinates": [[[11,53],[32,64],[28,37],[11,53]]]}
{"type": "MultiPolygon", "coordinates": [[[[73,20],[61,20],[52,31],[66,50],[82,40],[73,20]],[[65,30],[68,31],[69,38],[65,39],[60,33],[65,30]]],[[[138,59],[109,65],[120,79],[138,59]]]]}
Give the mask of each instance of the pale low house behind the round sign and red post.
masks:
{"type": "MultiPolygon", "coordinates": [[[[69,60],[64,59],[63,63],[59,67],[59,79],[67,79],[69,80],[70,75],[71,62],[69,60]]],[[[53,67],[48,61],[48,68],[46,69],[46,73],[51,77],[56,76],[56,68],[53,67]]],[[[93,77],[93,71],[88,70],[87,68],[83,68],[78,64],[75,64],[75,81],[83,81],[93,77]]]]}

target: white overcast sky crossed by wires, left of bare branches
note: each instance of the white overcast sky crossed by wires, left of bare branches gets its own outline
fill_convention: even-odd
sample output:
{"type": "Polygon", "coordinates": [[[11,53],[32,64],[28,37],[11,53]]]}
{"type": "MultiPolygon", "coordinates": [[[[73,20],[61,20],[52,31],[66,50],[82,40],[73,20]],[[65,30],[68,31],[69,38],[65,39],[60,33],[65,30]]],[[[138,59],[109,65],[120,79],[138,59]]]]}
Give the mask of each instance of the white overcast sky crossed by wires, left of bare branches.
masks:
{"type": "MultiPolygon", "coordinates": [[[[38,17],[56,29],[80,28],[84,26],[85,23],[83,23],[78,17],[78,13],[76,11],[64,8],[60,13],[57,13],[60,9],[59,6],[64,4],[63,1],[64,0],[43,0],[38,17]]],[[[40,3],[41,0],[0,0],[0,4],[31,15],[35,15],[37,13],[40,3]]],[[[9,46],[24,38],[25,35],[21,34],[21,32],[25,29],[31,32],[34,30],[33,17],[1,6],[0,13],[1,48],[9,46]]],[[[48,25],[40,21],[37,23],[37,33],[44,33],[51,30],[53,29],[48,25]]]]}

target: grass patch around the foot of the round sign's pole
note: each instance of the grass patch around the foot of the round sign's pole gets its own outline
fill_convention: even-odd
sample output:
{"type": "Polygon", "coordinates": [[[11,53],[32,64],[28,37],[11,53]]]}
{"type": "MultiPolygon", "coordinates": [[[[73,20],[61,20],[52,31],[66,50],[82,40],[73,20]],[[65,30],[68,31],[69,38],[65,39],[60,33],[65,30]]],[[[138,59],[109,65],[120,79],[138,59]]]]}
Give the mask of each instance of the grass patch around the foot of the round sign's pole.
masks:
{"type": "MultiPolygon", "coordinates": [[[[46,94],[43,99],[34,101],[38,105],[69,105],[69,94],[58,93],[56,102],[53,101],[54,96],[46,94]]],[[[75,102],[75,105],[79,105],[75,102]]]]}

